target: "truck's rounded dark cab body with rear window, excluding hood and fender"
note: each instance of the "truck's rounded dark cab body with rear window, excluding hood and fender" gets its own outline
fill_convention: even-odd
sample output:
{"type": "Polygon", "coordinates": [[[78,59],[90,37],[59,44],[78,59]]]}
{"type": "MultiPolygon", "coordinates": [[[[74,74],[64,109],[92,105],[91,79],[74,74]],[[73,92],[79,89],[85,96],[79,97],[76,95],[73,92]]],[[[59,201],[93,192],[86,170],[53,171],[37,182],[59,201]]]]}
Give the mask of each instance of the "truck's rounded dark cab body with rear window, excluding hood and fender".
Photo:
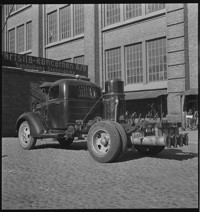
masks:
{"type": "MultiPolygon", "coordinates": [[[[46,121],[51,129],[67,129],[69,124],[84,119],[90,108],[101,97],[101,89],[87,81],[62,79],[52,84],[47,99],[46,121]]],[[[85,119],[102,116],[101,102],[85,119]]]]}

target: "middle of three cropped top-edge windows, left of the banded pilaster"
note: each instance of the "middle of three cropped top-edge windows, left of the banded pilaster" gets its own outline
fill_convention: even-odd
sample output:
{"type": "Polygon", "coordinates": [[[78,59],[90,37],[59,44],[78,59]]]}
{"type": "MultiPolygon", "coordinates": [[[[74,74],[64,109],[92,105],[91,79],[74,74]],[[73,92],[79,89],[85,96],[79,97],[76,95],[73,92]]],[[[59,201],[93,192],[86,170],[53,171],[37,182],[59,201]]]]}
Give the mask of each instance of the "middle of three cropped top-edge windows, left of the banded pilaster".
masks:
{"type": "Polygon", "coordinates": [[[126,19],[134,18],[142,15],[141,4],[125,4],[126,19]]]}

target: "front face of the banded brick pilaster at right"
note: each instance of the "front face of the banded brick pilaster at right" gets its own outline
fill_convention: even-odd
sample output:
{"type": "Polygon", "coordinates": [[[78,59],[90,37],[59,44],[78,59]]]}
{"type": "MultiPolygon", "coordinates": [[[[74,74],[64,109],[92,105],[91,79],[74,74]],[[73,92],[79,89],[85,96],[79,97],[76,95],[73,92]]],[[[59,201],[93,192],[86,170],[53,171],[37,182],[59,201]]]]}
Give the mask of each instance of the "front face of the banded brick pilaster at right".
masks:
{"type": "Polygon", "coordinates": [[[167,119],[169,121],[181,121],[182,103],[179,92],[185,91],[186,77],[184,5],[167,4],[166,11],[168,54],[167,119]]]}

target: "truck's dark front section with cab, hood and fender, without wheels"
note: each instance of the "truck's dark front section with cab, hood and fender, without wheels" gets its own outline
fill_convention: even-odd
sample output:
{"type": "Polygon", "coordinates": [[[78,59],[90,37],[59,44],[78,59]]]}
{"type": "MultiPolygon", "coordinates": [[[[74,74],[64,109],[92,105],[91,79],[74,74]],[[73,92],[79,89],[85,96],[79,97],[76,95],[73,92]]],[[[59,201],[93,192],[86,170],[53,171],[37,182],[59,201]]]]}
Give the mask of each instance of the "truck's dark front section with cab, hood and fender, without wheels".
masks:
{"type": "Polygon", "coordinates": [[[96,119],[102,119],[102,92],[98,85],[77,78],[44,84],[40,88],[46,93],[46,100],[18,118],[18,132],[25,122],[30,136],[35,139],[67,140],[87,132],[96,119]]]}

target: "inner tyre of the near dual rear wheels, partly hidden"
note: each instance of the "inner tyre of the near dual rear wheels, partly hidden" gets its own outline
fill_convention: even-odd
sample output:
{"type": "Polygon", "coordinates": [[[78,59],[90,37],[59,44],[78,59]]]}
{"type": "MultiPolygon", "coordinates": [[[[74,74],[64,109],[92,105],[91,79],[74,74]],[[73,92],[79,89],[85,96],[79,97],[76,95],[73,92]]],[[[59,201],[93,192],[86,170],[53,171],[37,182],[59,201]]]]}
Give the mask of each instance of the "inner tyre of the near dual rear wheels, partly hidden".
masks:
{"type": "Polygon", "coordinates": [[[121,151],[119,151],[119,156],[117,157],[118,159],[122,158],[123,155],[124,155],[124,152],[127,148],[127,142],[128,142],[128,139],[127,139],[127,134],[124,130],[124,128],[122,127],[122,125],[120,125],[119,123],[115,122],[115,121],[110,121],[112,124],[114,124],[114,126],[117,128],[118,130],[118,133],[121,137],[121,143],[122,143],[122,149],[121,151]]]}

